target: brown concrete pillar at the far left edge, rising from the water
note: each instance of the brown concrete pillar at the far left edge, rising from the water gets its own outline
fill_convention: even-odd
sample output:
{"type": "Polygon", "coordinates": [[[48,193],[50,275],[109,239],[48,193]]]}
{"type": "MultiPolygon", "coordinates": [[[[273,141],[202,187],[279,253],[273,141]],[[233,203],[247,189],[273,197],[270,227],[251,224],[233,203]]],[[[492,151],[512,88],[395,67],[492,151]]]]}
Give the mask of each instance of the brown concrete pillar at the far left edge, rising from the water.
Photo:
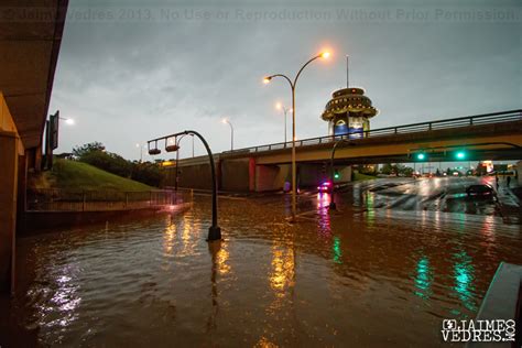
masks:
{"type": "Polygon", "coordinates": [[[19,139],[0,131],[0,290],[14,291],[19,139]]]}

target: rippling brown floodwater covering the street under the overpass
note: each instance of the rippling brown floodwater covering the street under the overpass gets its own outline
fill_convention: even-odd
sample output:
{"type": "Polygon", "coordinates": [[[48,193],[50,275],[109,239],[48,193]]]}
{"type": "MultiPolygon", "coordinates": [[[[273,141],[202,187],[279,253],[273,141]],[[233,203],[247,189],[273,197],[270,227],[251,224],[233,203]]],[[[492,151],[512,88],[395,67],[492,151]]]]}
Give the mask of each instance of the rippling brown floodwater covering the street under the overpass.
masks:
{"type": "Polygon", "coordinates": [[[9,315],[42,346],[435,347],[444,318],[477,314],[499,262],[522,263],[518,225],[355,191],[341,211],[302,196],[295,225],[287,196],[220,198],[213,243],[208,196],[22,238],[9,315]]]}

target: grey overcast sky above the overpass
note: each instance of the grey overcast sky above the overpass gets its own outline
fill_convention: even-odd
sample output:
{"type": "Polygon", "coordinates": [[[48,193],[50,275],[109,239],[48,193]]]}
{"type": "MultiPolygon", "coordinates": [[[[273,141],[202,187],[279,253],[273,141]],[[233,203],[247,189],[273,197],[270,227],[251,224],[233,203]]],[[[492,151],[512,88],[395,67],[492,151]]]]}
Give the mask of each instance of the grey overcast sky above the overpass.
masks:
{"type": "Polygon", "coordinates": [[[138,159],[137,143],[185,129],[220,152],[222,117],[235,148],[283,141],[274,104],[290,107],[290,87],[262,77],[293,77],[323,48],[330,58],[297,84],[300,139],[327,134],[319,116],[346,87],[346,55],[350,86],[380,110],[372,129],[522,106],[519,0],[140,2],[69,1],[50,112],[76,124],[57,152],[100,141],[138,159]]]}

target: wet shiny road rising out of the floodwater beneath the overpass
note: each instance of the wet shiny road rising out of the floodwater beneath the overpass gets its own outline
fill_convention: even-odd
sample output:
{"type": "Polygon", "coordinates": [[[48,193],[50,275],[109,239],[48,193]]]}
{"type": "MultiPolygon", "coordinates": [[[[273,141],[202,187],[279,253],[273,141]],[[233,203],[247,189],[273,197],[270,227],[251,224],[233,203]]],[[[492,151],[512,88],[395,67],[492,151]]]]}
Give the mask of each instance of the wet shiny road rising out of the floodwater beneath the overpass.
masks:
{"type": "MultiPolygon", "coordinates": [[[[494,177],[390,177],[349,183],[336,191],[336,203],[345,208],[392,209],[403,211],[434,210],[471,215],[497,216],[507,224],[519,224],[519,199],[500,178],[494,199],[468,197],[466,187],[489,184],[496,187],[494,177]]],[[[513,186],[513,181],[511,183],[513,186]]],[[[303,196],[316,192],[304,192],[303,196]]],[[[304,198],[304,197],[303,197],[304,198]]],[[[304,199],[303,199],[304,200],[304,199]]]]}

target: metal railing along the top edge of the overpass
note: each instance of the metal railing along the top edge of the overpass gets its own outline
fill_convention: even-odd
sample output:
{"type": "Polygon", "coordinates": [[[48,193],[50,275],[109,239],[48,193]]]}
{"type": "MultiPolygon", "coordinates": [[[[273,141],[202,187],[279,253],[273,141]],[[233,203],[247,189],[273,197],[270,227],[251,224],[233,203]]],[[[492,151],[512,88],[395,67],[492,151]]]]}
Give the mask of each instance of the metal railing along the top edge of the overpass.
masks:
{"type": "MultiPolygon", "coordinates": [[[[446,120],[429,121],[429,122],[420,122],[420,123],[410,123],[404,126],[396,127],[387,127],[380,129],[368,130],[359,133],[347,133],[342,135],[326,135],[317,138],[308,138],[295,141],[295,146],[307,146],[307,145],[317,145],[322,143],[330,143],[341,139],[350,139],[351,141],[357,141],[367,138],[378,138],[378,137],[388,137],[395,134],[409,134],[417,132],[427,132],[433,130],[450,129],[450,128],[460,128],[460,127],[472,127],[472,126],[482,126],[482,124],[494,124],[503,122],[514,122],[522,121],[522,110],[510,110],[501,111],[493,113],[483,113],[467,117],[459,117],[446,120]]],[[[257,153],[264,151],[273,150],[284,150],[291,149],[292,142],[279,142],[265,145],[258,145],[251,148],[237,149],[233,151],[224,151],[224,154],[241,154],[241,153],[257,153]]]]}

